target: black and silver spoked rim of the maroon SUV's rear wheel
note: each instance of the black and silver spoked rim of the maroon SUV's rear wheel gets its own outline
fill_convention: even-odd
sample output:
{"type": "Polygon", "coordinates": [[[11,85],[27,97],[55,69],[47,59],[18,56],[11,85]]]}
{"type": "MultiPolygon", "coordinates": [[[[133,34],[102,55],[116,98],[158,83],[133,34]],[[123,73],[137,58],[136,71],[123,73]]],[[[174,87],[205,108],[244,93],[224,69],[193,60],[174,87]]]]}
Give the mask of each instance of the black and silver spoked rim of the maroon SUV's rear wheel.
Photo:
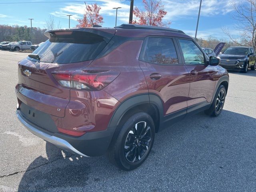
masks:
{"type": "Polygon", "coordinates": [[[151,141],[151,128],[146,122],[136,123],[128,132],[124,155],[129,162],[139,161],[147,152],[151,141]]]}

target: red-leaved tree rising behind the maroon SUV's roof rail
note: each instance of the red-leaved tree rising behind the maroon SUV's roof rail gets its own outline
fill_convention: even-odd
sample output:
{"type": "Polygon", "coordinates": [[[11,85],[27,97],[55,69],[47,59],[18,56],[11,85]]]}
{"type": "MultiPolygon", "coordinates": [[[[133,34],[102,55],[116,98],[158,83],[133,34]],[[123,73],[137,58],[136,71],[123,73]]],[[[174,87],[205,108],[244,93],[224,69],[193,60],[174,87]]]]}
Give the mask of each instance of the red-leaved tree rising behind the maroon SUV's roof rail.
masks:
{"type": "Polygon", "coordinates": [[[167,14],[164,10],[161,0],[142,0],[144,10],[138,7],[134,8],[133,14],[138,20],[133,20],[133,24],[152,25],[152,26],[169,26],[170,21],[163,22],[162,19],[167,14]]]}

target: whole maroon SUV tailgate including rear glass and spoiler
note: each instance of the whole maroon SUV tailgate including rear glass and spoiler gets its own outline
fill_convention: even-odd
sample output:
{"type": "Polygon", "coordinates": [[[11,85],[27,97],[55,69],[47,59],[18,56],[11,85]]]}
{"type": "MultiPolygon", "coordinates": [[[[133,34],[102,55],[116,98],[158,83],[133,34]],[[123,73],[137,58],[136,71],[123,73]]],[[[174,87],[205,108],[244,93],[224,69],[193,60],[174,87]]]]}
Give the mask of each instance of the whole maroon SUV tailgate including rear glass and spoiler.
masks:
{"type": "Polygon", "coordinates": [[[70,88],[60,86],[53,71],[81,70],[106,47],[115,30],[92,29],[48,31],[50,37],[31,56],[18,63],[16,95],[19,102],[57,117],[65,116],[70,88]]]}

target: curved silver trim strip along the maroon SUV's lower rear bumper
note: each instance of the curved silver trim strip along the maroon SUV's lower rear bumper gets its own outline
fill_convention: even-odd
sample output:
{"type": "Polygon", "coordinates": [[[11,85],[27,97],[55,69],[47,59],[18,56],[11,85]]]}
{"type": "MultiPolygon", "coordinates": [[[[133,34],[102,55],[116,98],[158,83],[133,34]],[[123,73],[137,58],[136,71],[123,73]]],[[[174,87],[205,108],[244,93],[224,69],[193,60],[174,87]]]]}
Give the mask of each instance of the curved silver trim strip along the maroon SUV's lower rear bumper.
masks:
{"type": "Polygon", "coordinates": [[[18,112],[18,110],[16,111],[16,116],[18,117],[18,119],[20,120],[20,122],[30,131],[32,132],[34,135],[42,138],[43,140],[46,140],[54,145],[56,145],[57,147],[67,150],[69,152],[84,156],[84,157],[89,157],[85,154],[82,154],[81,152],[79,152],[78,150],[76,150],[69,142],[67,142],[64,139],[58,138],[56,136],[51,136],[49,134],[46,134],[42,131],[40,131],[39,129],[36,128],[36,126],[32,126],[30,125],[26,120],[24,120],[24,118],[20,115],[20,113],[18,112]]]}

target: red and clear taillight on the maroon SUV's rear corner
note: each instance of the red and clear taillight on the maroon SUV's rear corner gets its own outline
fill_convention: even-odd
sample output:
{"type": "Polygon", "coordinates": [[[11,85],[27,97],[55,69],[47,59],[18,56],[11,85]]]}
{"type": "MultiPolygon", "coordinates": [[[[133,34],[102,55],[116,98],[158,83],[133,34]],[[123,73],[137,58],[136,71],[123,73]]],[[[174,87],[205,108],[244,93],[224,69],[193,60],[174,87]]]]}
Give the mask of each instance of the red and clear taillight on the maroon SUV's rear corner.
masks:
{"type": "Polygon", "coordinates": [[[115,71],[74,70],[53,71],[52,75],[62,87],[80,90],[100,90],[120,73],[115,71]]]}

